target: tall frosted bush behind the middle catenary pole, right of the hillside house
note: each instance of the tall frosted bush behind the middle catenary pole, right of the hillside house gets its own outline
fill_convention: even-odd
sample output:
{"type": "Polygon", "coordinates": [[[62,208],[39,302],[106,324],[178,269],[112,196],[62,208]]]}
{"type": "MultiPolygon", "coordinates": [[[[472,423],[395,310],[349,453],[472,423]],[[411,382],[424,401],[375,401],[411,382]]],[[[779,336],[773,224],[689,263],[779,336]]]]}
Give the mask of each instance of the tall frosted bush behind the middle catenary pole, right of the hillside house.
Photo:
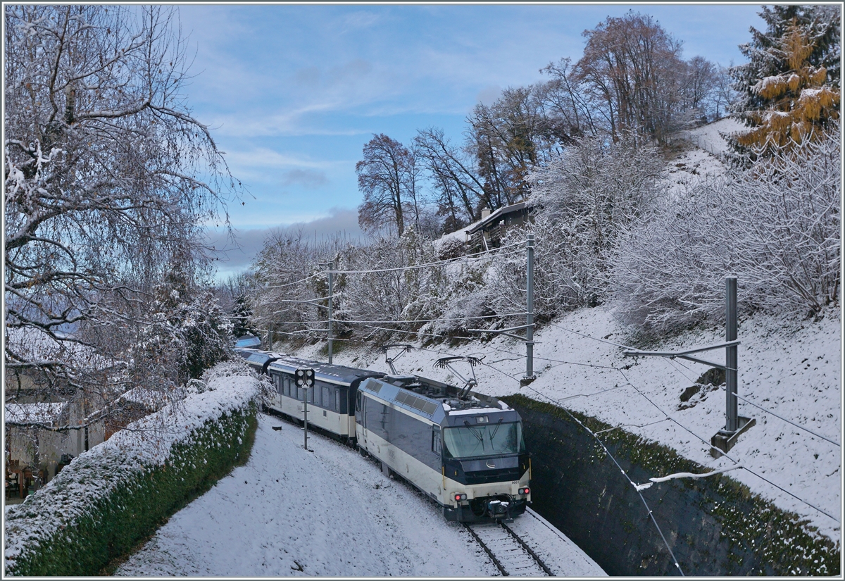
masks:
{"type": "MultiPolygon", "coordinates": [[[[585,139],[532,175],[533,224],[504,243],[535,235],[535,311],[552,318],[594,306],[608,294],[619,237],[658,197],[656,149],[585,139]]],[[[493,259],[488,294],[494,312],[525,310],[526,254],[493,259]]]]}

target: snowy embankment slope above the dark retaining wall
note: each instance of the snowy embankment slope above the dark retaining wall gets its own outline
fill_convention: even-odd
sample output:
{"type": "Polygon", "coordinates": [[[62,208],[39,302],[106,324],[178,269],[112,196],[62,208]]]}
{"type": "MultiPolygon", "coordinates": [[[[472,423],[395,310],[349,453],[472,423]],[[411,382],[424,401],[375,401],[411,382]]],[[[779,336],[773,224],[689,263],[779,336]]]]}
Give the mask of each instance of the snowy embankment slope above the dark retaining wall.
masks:
{"type": "MultiPolygon", "coordinates": [[[[741,320],[739,395],[841,443],[841,325],[835,309],[828,310],[818,322],[762,315],[741,320]]],[[[702,389],[685,403],[679,399],[707,367],[662,357],[624,357],[622,349],[610,342],[625,344],[628,337],[605,307],[571,312],[541,329],[535,339],[537,380],[526,388],[520,388],[518,382],[525,375],[525,347],[504,337],[455,349],[441,345],[415,350],[401,356],[395,366],[398,372],[457,382],[447,372],[435,370],[433,361],[448,355],[484,356],[486,365],[476,367],[478,391],[499,396],[523,393],[582,411],[674,448],[708,469],[728,468],[735,465],[731,459],[737,460],[788,492],[778,490],[749,470],[732,470],[729,473],[732,478],[771,499],[778,507],[809,519],[810,524],[834,541],[840,540],[841,526],[837,522],[842,518],[840,446],[740,400],[739,415],[753,417],[757,424],[739,437],[739,443],[728,454],[731,459],[713,459],[709,442],[724,426],[724,391],[702,389]],[[625,366],[630,368],[619,371],[625,366]],[[683,410],[679,409],[682,405],[683,410]],[[678,423],[668,420],[668,415],[678,423]],[[802,501],[821,508],[837,520],[802,501]]],[[[648,348],[679,350],[722,341],[724,330],[712,329],[683,334],[648,348]]],[[[319,345],[314,345],[300,355],[320,358],[318,349],[319,345]]],[[[724,350],[699,356],[723,362],[724,350]]],[[[335,355],[335,363],[390,371],[378,350],[341,351],[335,355]]],[[[660,476],[664,475],[652,475],[660,476]]]]}

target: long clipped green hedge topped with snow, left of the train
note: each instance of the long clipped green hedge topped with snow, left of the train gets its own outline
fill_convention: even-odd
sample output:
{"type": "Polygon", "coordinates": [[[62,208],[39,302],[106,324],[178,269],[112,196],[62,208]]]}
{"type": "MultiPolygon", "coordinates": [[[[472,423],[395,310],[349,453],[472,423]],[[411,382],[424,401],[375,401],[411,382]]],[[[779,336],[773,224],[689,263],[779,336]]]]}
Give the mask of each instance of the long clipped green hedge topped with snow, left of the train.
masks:
{"type": "Polygon", "coordinates": [[[6,508],[7,575],[98,575],[206,490],[252,446],[262,383],[243,363],[80,454],[25,502],[6,508]]]}

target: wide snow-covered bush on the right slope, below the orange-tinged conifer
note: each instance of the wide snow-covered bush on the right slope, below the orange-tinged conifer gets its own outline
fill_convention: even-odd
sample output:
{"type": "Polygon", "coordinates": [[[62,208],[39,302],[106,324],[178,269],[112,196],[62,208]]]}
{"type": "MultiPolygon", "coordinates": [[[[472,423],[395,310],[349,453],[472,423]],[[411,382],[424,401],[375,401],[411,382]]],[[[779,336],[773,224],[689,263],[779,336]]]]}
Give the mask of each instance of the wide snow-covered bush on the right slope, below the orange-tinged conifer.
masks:
{"type": "Polygon", "coordinates": [[[724,317],[736,275],[742,312],[815,314],[839,296],[839,131],[667,200],[620,244],[613,291],[646,330],[724,317]]]}

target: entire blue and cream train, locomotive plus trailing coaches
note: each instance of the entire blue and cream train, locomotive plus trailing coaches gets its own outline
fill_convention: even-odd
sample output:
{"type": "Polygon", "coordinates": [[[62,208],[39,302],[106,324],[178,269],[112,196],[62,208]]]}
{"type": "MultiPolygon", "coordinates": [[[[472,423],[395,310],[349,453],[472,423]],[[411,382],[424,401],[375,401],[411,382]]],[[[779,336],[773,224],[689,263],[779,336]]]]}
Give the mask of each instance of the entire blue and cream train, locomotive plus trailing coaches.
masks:
{"type": "MultiPolygon", "coordinates": [[[[270,377],[265,405],[303,421],[297,369],[314,370],[308,428],[348,443],[436,502],[461,523],[510,520],[532,503],[531,456],[519,413],[503,401],[418,375],[310,361],[256,345],[235,345],[270,377]]],[[[392,365],[391,365],[392,368],[392,365]]]]}

